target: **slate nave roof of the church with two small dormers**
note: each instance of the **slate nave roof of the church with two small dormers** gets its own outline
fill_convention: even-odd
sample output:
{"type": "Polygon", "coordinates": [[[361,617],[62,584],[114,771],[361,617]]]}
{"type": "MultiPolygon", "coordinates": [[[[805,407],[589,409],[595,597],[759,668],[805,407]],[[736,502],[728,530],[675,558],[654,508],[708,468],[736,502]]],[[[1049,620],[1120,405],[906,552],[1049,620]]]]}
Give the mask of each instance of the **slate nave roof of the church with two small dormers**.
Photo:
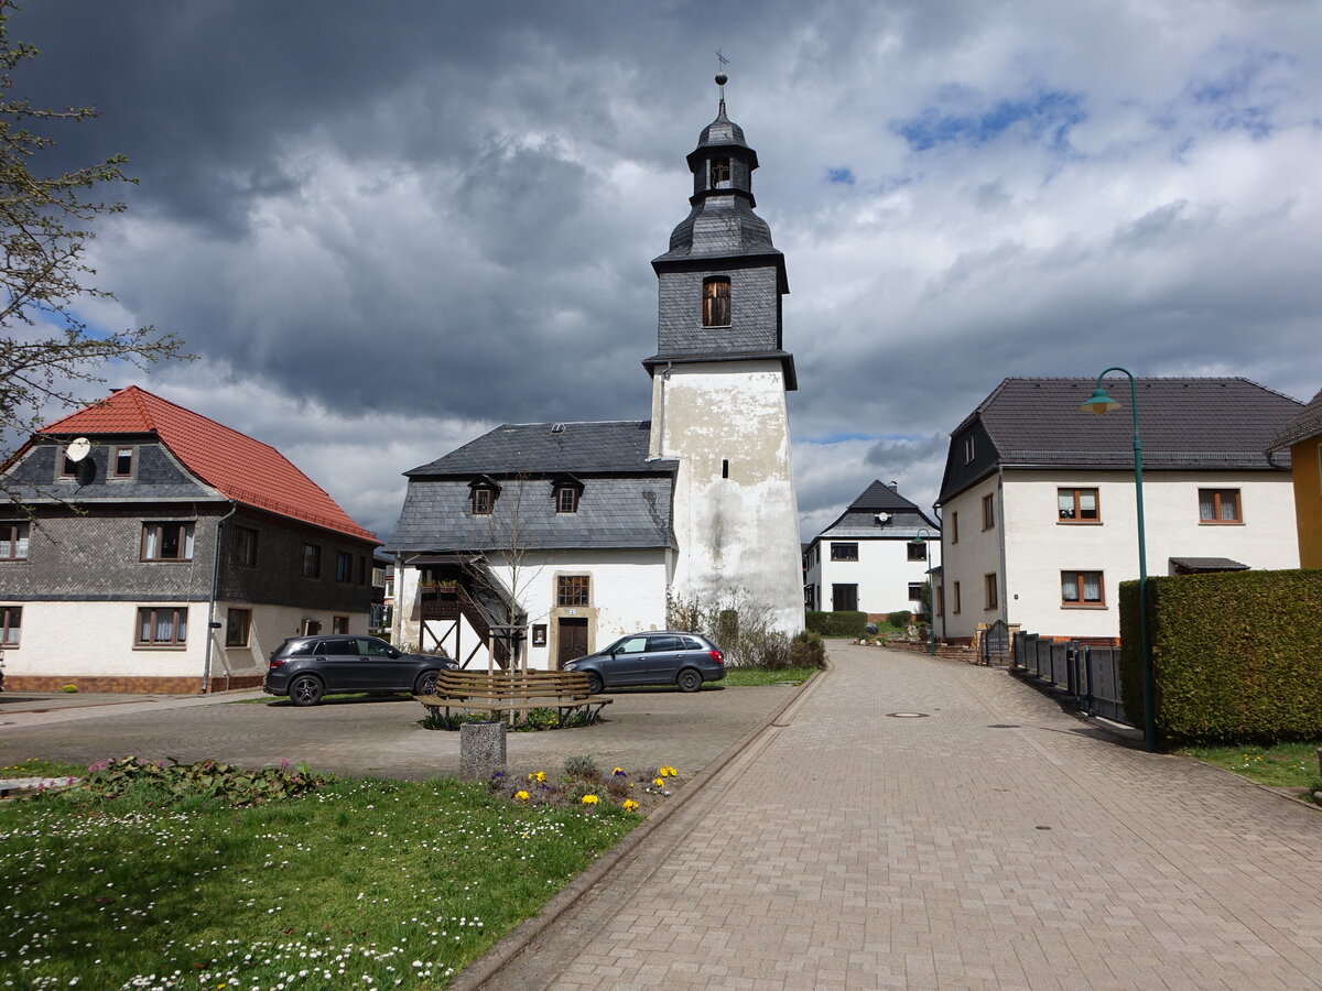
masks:
{"type": "Polygon", "coordinates": [[[677,462],[648,460],[650,423],[506,423],[414,468],[387,551],[674,548],[677,462]],[[553,431],[561,425],[563,429],[553,431]],[[469,482],[500,486],[494,511],[473,515],[469,482]],[[553,481],[583,485],[576,513],[557,513],[553,481]]]}

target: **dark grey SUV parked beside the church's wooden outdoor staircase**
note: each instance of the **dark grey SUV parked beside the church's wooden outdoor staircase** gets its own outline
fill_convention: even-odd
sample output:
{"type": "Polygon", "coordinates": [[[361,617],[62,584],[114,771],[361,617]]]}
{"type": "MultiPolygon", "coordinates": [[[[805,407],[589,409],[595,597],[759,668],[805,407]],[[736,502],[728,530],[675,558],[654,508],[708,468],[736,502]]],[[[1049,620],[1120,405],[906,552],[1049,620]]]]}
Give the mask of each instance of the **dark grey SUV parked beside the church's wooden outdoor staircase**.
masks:
{"type": "Polygon", "coordinates": [[[402,654],[375,637],[290,637],[271,653],[262,691],[316,706],[323,695],[410,691],[430,695],[442,669],[459,665],[443,654],[402,654]]]}

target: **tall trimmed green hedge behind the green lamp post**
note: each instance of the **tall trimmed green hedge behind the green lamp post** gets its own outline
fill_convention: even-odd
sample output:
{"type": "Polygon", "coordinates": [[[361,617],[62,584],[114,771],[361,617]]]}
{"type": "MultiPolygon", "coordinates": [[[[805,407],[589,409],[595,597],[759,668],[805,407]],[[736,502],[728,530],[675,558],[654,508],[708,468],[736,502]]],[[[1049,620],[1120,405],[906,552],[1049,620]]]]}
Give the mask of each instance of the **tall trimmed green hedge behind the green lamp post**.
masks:
{"type": "MultiPolygon", "coordinates": [[[[1322,737],[1322,571],[1147,579],[1158,736],[1169,744],[1322,737]]],[[[1125,712],[1142,725],[1138,583],[1120,587],[1125,712]]]]}

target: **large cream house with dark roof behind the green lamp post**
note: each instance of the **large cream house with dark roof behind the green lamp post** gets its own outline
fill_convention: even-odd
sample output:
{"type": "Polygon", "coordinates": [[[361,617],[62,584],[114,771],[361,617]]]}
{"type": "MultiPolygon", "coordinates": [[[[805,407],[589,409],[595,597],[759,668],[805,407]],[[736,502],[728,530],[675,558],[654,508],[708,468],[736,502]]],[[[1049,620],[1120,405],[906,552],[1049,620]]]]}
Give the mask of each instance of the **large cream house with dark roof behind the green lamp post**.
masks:
{"type": "MultiPolygon", "coordinates": [[[[1080,412],[1093,385],[1007,378],[951,435],[939,634],[968,641],[1003,620],[1118,637],[1118,587],[1138,577],[1133,420],[1080,412]]],[[[1288,459],[1264,452],[1301,404],[1244,378],[1137,391],[1147,572],[1298,567],[1288,459]]],[[[1114,395],[1128,407],[1128,388],[1114,395]]]]}

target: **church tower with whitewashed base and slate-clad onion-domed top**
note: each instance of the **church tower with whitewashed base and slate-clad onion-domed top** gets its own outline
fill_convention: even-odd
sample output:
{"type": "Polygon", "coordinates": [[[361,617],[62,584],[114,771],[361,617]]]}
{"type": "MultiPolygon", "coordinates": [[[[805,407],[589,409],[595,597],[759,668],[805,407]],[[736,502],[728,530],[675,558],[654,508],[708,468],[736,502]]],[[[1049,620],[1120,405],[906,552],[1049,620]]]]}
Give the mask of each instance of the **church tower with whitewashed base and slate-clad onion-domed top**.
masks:
{"type": "Polygon", "coordinates": [[[672,589],[711,603],[731,593],[772,608],[787,633],[804,626],[798,505],[785,394],[797,387],[781,341],[785,259],[754,213],[758,153],[726,116],[689,155],[689,215],[653,259],[658,281],[652,375],[652,457],[680,462],[672,589]]]}

